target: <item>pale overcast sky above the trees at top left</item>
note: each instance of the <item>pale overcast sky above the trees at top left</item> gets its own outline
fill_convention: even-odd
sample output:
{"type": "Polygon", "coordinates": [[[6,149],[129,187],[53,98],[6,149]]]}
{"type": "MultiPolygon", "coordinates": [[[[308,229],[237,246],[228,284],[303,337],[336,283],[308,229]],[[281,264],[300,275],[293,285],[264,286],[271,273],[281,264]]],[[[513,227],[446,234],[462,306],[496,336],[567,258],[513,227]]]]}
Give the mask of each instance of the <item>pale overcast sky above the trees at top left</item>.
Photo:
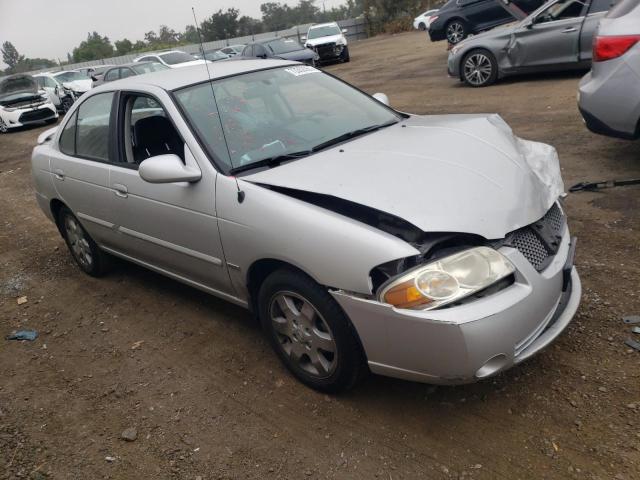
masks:
{"type": "MultiPolygon", "coordinates": [[[[230,7],[241,15],[260,18],[260,4],[267,0],[0,0],[0,44],[13,43],[27,57],[60,58],[97,31],[113,42],[128,38],[143,40],[144,33],[168,25],[176,31],[193,24],[191,7],[198,21],[230,7]]],[[[278,0],[276,0],[278,1],[278,0]]],[[[279,0],[295,5],[296,0],[279,0]]],[[[325,0],[326,7],[342,0],[325,0]]],[[[316,4],[322,8],[322,0],[316,4]]],[[[5,68],[0,56],[0,68],[5,68]]]]}

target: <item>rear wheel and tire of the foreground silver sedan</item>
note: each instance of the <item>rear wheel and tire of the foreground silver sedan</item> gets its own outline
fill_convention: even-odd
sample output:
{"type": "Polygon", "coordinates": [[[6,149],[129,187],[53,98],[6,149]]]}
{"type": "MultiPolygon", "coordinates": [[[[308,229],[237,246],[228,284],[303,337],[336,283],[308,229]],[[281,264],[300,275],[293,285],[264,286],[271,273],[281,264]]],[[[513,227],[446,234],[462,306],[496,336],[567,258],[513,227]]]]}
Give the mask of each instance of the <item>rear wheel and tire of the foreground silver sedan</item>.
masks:
{"type": "Polygon", "coordinates": [[[67,207],[62,207],[58,213],[58,228],[80,270],[92,277],[101,277],[107,272],[109,269],[107,254],[100,250],[67,207]]]}

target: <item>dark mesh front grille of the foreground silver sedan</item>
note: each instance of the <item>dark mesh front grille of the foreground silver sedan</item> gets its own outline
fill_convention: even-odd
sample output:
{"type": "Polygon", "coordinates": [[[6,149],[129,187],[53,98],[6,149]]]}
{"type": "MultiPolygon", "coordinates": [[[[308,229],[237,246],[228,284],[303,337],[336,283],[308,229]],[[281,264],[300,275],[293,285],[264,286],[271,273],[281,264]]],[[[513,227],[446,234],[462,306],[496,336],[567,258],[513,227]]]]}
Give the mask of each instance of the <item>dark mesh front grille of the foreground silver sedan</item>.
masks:
{"type": "Polygon", "coordinates": [[[558,253],[565,217],[557,203],[535,223],[507,236],[506,245],[517,248],[539,272],[544,270],[558,253]]]}

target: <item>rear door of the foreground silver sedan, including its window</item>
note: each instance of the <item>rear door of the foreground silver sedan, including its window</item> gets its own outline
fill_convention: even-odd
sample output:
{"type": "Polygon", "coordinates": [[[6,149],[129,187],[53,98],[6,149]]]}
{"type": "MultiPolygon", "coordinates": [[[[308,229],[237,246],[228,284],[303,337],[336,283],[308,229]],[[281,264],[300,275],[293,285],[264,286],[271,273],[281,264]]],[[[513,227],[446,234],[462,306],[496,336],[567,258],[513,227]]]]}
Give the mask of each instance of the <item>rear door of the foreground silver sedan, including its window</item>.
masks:
{"type": "Polygon", "coordinates": [[[50,158],[58,197],[101,246],[112,244],[115,236],[109,191],[114,99],[113,92],[106,92],[84,100],[64,125],[50,158]]]}

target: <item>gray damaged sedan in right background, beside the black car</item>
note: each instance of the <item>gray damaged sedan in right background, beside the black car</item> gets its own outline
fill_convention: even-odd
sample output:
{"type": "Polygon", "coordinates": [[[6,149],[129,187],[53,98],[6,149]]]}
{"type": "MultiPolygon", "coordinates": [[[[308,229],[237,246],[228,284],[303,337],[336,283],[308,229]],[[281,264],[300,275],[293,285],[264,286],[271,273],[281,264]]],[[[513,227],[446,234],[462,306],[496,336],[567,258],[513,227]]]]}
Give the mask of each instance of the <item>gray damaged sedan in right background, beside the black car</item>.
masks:
{"type": "Polygon", "coordinates": [[[470,37],[449,52],[449,75],[486,87],[516,74],[587,69],[612,0],[551,0],[524,20],[470,37]]]}

